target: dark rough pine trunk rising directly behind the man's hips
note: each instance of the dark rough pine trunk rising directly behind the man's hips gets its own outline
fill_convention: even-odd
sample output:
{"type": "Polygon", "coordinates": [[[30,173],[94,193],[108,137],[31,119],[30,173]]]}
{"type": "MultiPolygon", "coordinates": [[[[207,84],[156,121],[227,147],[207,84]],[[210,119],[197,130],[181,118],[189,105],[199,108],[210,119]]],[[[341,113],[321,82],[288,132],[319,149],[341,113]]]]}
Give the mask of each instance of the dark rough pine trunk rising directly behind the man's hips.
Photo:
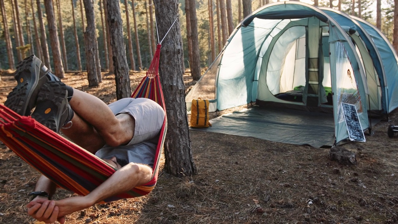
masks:
{"type": "Polygon", "coordinates": [[[126,46],[123,39],[123,23],[120,15],[119,1],[107,0],[109,36],[115,69],[116,98],[131,96],[129,66],[127,65],[126,46]]]}

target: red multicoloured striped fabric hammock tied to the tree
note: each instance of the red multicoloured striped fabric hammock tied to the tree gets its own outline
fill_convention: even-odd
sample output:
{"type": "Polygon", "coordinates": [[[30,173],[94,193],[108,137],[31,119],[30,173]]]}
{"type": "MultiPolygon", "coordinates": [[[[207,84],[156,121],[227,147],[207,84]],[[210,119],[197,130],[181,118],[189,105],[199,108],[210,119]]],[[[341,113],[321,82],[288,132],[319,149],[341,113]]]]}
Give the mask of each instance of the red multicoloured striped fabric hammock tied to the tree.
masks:
{"type": "MultiPolygon", "coordinates": [[[[158,74],[160,47],[158,44],[146,76],[131,97],[150,98],[166,111],[158,74]]],[[[166,129],[165,115],[151,180],[126,193],[106,198],[102,203],[143,196],[154,189],[158,179],[159,159],[166,129]]],[[[78,195],[87,195],[116,171],[99,157],[51,131],[30,116],[20,116],[2,104],[0,104],[0,140],[59,187],[78,195]]]]}

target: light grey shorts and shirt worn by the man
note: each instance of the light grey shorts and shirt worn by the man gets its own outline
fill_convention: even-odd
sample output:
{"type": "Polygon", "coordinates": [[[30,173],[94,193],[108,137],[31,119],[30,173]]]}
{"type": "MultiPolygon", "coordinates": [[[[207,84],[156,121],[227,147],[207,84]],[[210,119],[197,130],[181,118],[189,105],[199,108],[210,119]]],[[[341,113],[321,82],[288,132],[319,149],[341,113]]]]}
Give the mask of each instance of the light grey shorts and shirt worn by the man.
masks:
{"type": "Polygon", "coordinates": [[[153,166],[156,143],[164,121],[164,110],[147,98],[123,98],[108,105],[113,114],[127,113],[135,119],[134,136],[127,145],[104,145],[96,152],[102,159],[126,159],[129,163],[153,166]]]}

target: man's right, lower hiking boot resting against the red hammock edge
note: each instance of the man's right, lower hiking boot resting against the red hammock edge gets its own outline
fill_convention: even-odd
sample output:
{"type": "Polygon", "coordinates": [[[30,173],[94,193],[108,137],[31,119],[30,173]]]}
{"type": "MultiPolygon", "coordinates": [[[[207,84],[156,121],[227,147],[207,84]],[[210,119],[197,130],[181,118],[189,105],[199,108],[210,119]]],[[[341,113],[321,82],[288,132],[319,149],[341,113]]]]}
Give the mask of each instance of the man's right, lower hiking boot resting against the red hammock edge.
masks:
{"type": "Polygon", "coordinates": [[[58,81],[47,81],[41,86],[32,118],[47,128],[59,133],[60,128],[71,124],[74,112],[68,102],[66,85],[58,81]]]}

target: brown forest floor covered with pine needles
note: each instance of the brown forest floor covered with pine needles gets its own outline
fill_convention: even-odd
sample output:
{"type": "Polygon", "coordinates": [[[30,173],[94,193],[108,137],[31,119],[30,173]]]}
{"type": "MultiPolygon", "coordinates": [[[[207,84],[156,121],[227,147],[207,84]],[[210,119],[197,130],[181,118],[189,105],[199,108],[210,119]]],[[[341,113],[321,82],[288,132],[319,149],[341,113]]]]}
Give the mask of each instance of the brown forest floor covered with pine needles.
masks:
{"type": "MultiPolygon", "coordinates": [[[[132,89],[143,76],[130,74],[132,89]]],[[[68,73],[62,81],[106,103],[116,100],[113,75],[104,73],[93,88],[85,73],[68,73]]],[[[184,82],[187,89],[195,83],[189,74],[184,82]]],[[[2,74],[0,103],[15,84],[2,74]]],[[[373,126],[365,143],[343,145],[356,153],[356,166],[330,161],[326,148],[190,131],[197,175],[177,178],[161,170],[149,195],[98,204],[67,216],[66,223],[398,223],[398,135],[388,138],[389,124],[398,124],[398,111],[373,126]]],[[[25,207],[38,177],[0,145],[1,224],[40,223],[25,207]]],[[[55,199],[69,196],[58,190],[55,199]]]]}

